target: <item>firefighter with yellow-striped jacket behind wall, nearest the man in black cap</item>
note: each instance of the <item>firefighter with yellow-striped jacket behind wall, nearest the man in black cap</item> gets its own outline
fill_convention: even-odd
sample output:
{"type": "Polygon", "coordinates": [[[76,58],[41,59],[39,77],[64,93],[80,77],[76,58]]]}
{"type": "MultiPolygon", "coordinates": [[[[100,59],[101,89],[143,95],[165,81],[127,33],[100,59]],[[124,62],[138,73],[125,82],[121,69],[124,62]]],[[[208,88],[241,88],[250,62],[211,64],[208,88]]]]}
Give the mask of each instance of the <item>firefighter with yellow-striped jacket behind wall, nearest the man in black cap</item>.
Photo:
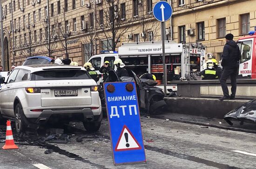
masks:
{"type": "Polygon", "coordinates": [[[202,80],[215,80],[218,79],[216,69],[214,68],[214,63],[210,59],[206,62],[207,68],[201,71],[202,80]]]}

